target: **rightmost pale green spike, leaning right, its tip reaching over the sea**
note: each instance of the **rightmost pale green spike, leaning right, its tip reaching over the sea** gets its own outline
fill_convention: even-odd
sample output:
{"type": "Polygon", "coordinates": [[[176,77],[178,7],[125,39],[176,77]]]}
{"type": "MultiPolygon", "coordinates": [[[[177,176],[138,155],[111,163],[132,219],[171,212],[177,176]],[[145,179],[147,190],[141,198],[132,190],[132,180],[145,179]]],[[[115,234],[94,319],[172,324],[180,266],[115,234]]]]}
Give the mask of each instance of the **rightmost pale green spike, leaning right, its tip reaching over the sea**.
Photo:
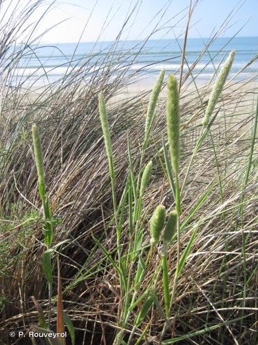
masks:
{"type": "Polygon", "coordinates": [[[208,120],[210,119],[210,116],[213,113],[213,110],[216,106],[217,99],[219,98],[219,95],[222,92],[224,83],[226,81],[226,78],[228,77],[228,73],[230,72],[230,68],[232,66],[234,57],[235,57],[235,50],[230,52],[228,59],[226,59],[224,66],[222,67],[221,71],[219,72],[219,75],[217,76],[217,79],[213,86],[213,90],[211,92],[211,97],[208,100],[208,106],[205,111],[204,119],[202,120],[203,126],[208,125],[208,120]]]}

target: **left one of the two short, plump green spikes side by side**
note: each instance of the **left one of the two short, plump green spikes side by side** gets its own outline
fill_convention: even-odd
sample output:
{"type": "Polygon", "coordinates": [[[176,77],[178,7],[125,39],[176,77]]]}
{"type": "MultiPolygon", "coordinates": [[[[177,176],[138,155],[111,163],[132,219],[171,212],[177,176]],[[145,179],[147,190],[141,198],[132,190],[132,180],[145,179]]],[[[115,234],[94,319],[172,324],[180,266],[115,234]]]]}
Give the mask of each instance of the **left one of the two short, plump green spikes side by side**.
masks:
{"type": "Polygon", "coordinates": [[[160,233],[164,228],[166,217],[166,208],[163,205],[158,205],[149,221],[149,230],[151,233],[151,245],[157,244],[160,239],[160,233]]]}

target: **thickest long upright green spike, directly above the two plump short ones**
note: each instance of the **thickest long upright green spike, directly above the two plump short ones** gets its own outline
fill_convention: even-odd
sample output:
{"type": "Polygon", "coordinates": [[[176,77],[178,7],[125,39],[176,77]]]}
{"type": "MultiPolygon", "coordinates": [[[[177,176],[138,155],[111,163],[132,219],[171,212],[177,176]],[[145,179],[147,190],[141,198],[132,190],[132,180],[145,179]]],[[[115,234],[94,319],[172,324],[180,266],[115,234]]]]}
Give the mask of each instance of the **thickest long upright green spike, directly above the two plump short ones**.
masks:
{"type": "Polygon", "coordinates": [[[180,138],[180,117],[179,117],[179,95],[178,85],[174,75],[168,76],[167,82],[167,106],[166,126],[171,150],[171,164],[175,174],[179,172],[179,138],[180,138]]]}

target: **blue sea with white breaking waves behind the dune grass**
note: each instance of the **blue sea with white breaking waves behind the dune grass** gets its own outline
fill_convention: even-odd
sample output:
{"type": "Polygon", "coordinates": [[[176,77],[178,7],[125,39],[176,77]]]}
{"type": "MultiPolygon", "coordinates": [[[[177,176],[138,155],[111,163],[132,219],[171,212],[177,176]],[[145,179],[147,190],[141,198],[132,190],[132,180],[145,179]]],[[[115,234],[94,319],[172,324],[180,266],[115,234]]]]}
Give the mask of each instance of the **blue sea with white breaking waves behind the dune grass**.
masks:
{"type": "MultiPolygon", "coordinates": [[[[205,48],[208,41],[195,38],[187,40],[184,73],[191,69],[191,75],[196,79],[211,79],[219,71],[230,50],[235,50],[230,77],[257,80],[258,37],[217,38],[205,48]]],[[[112,78],[125,69],[127,75],[151,83],[162,68],[165,68],[166,73],[177,75],[180,72],[183,43],[182,39],[150,39],[145,42],[105,41],[24,46],[25,54],[19,59],[12,81],[56,83],[65,75],[83,73],[83,80],[87,82],[92,74],[111,68],[112,78]]]]}

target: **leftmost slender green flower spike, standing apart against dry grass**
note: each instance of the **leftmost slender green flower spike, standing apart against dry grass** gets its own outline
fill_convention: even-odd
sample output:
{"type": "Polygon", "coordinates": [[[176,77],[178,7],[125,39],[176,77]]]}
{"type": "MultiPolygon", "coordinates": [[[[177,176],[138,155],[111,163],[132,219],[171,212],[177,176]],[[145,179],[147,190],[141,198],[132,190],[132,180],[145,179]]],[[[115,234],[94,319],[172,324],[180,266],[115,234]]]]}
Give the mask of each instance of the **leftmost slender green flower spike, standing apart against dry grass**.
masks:
{"type": "Polygon", "coordinates": [[[44,164],[43,164],[43,152],[41,148],[41,140],[39,138],[39,132],[36,128],[36,124],[32,125],[32,141],[34,147],[34,157],[36,163],[36,170],[39,178],[39,194],[41,199],[45,201],[45,177],[44,177],[44,164]]]}

